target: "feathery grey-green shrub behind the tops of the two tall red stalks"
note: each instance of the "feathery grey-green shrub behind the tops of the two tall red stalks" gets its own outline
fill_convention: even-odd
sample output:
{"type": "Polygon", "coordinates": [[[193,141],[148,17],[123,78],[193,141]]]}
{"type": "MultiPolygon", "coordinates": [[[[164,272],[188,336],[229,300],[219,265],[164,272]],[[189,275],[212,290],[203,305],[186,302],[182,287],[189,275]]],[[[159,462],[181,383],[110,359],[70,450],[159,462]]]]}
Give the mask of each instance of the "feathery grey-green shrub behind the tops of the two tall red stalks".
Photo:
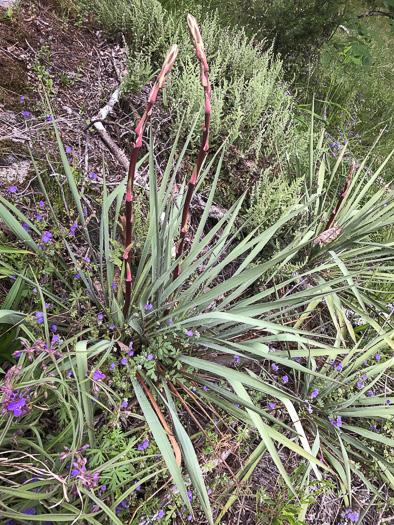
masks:
{"type": "MultiPolygon", "coordinates": [[[[127,44],[129,61],[128,76],[122,86],[124,93],[140,89],[159,67],[164,48],[174,40],[178,42],[179,57],[166,88],[166,100],[174,117],[172,129],[179,129],[181,121],[184,129],[188,129],[199,110],[201,91],[183,24],[157,0],[132,5],[119,0],[117,9],[107,0],[97,0],[96,5],[106,29],[127,44]]],[[[260,151],[270,154],[274,144],[281,154],[285,149],[292,151],[292,97],[283,81],[282,63],[274,58],[272,48],[265,40],[254,42],[242,29],[222,27],[215,14],[204,16],[201,33],[215,87],[212,145],[218,146],[225,137],[253,157],[260,151]]],[[[196,129],[200,129],[201,119],[202,115],[196,129]]],[[[196,133],[192,144],[197,141],[196,133]]]]}

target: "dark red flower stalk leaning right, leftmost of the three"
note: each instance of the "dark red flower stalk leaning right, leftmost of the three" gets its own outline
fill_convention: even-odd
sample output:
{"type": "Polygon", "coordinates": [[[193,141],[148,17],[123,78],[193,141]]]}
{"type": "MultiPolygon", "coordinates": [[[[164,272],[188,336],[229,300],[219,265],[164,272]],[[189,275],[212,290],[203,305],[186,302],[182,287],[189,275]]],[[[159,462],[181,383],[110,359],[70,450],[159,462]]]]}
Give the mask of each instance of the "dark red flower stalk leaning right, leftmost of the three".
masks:
{"type": "Polygon", "coordinates": [[[159,76],[154,83],[148,98],[148,104],[145,109],[145,113],[142,116],[138,126],[135,129],[136,139],[133,146],[133,151],[130,156],[130,165],[129,165],[129,174],[127,179],[127,189],[126,189],[126,226],[125,226],[125,253],[123,257],[126,260],[126,295],[125,303],[123,306],[123,314],[126,316],[130,306],[130,296],[131,296],[131,287],[132,287],[132,275],[131,275],[131,233],[132,233],[132,223],[133,223],[133,187],[134,187],[134,177],[135,177],[135,168],[137,165],[137,158],[142,146],[142,135],[146,127],[148,118],[152,114],[152,108],[156,102],[157,94],[159,89],[164,86],[164,83],[171,71],[172,66],[174,65],[175,59],[178,55],[178,46],[174,44],[171,49],[168,51],[167,56],[164,60],[163,67],[159,73],[159,76]]]}

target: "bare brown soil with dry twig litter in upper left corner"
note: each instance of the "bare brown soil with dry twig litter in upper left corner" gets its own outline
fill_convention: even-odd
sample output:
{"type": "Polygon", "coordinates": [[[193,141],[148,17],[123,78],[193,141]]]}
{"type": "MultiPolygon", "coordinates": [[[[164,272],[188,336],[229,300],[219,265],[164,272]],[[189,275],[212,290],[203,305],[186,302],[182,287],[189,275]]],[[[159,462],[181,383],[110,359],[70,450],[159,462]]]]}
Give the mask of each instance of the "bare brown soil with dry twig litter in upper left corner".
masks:
{"type": "MultiPolygon", "coordinates": [[[[119,87],[118,75],[125,68],[126,55],[124,49],[102,36],[94,21],[88,26],[75,24],[78,20],[70,19],[51,0],[22,2],[12,18],[0,24],[0,166],[12,165],[15,157],[27,159],[29,147],[40,153],[40,158],[53,153],[44,82],[64,145],[75,153],[75,165],[85,176],[100,172],[104,156],[112,168],[111,183],[120,180],[125,170],[101,138],[91,135],[87,122],[119,87]],[[44,78],[40,79],[42,72],[44,78]],[[22,111],[29,115],[23,116],[22,111]]],[[[122,131],[129,125],[133,128],[133,118],[124,118],[121,124],[122,131]]],[[[108,130],[115,140],[122,138],[123,146],[130,143],[129,129],[121,137],[116,124],[109,124],[108,130]]],[[[29,177],[24,182],[14,180],[13,171],[1,172],[0,193],[11,184],[18,183],[23,190],[30,183],[29,177]]]]}

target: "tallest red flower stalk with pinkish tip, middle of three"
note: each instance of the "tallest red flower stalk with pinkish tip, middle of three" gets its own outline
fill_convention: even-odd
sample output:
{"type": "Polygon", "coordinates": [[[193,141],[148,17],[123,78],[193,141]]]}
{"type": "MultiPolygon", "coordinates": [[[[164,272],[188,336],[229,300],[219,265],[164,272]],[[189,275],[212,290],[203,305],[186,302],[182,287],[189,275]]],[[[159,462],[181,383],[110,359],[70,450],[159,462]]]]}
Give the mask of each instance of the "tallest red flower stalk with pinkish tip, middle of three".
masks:
{"type": "MultiPolygon", "coordinates": [[[[189,215],[190,202],[196,187],[197,178],[200,174],[201,166],[204,158],[206,157],[209,149],[209,124],[211,120],[211,85],[208,79],[209,67],[207,58],[204,51],[204,43],[201,38],[200,29],[197,21],[192,15],[187,16],[187,25],[189,26],[190,36],[192,38],[194,47],[196,48],[196,55],[201,63],[201,85],[204,88],[204,99],[205,99],[205,120],[203,124],[203,134],[201,138],[200,151],[198,152],[197,162],[194,167],[189,186],[187,189],[186,200],[183,207],[181,232],[179,235],[179,243],[176,251],[176,258],[178,259],[183,252],[184,241],[187,231],[187,221],[189,215]]],[[[179,264],[175,268],[173,273],[173,279],[176,279],[181,273],[181,265],[179,264]]]]}

